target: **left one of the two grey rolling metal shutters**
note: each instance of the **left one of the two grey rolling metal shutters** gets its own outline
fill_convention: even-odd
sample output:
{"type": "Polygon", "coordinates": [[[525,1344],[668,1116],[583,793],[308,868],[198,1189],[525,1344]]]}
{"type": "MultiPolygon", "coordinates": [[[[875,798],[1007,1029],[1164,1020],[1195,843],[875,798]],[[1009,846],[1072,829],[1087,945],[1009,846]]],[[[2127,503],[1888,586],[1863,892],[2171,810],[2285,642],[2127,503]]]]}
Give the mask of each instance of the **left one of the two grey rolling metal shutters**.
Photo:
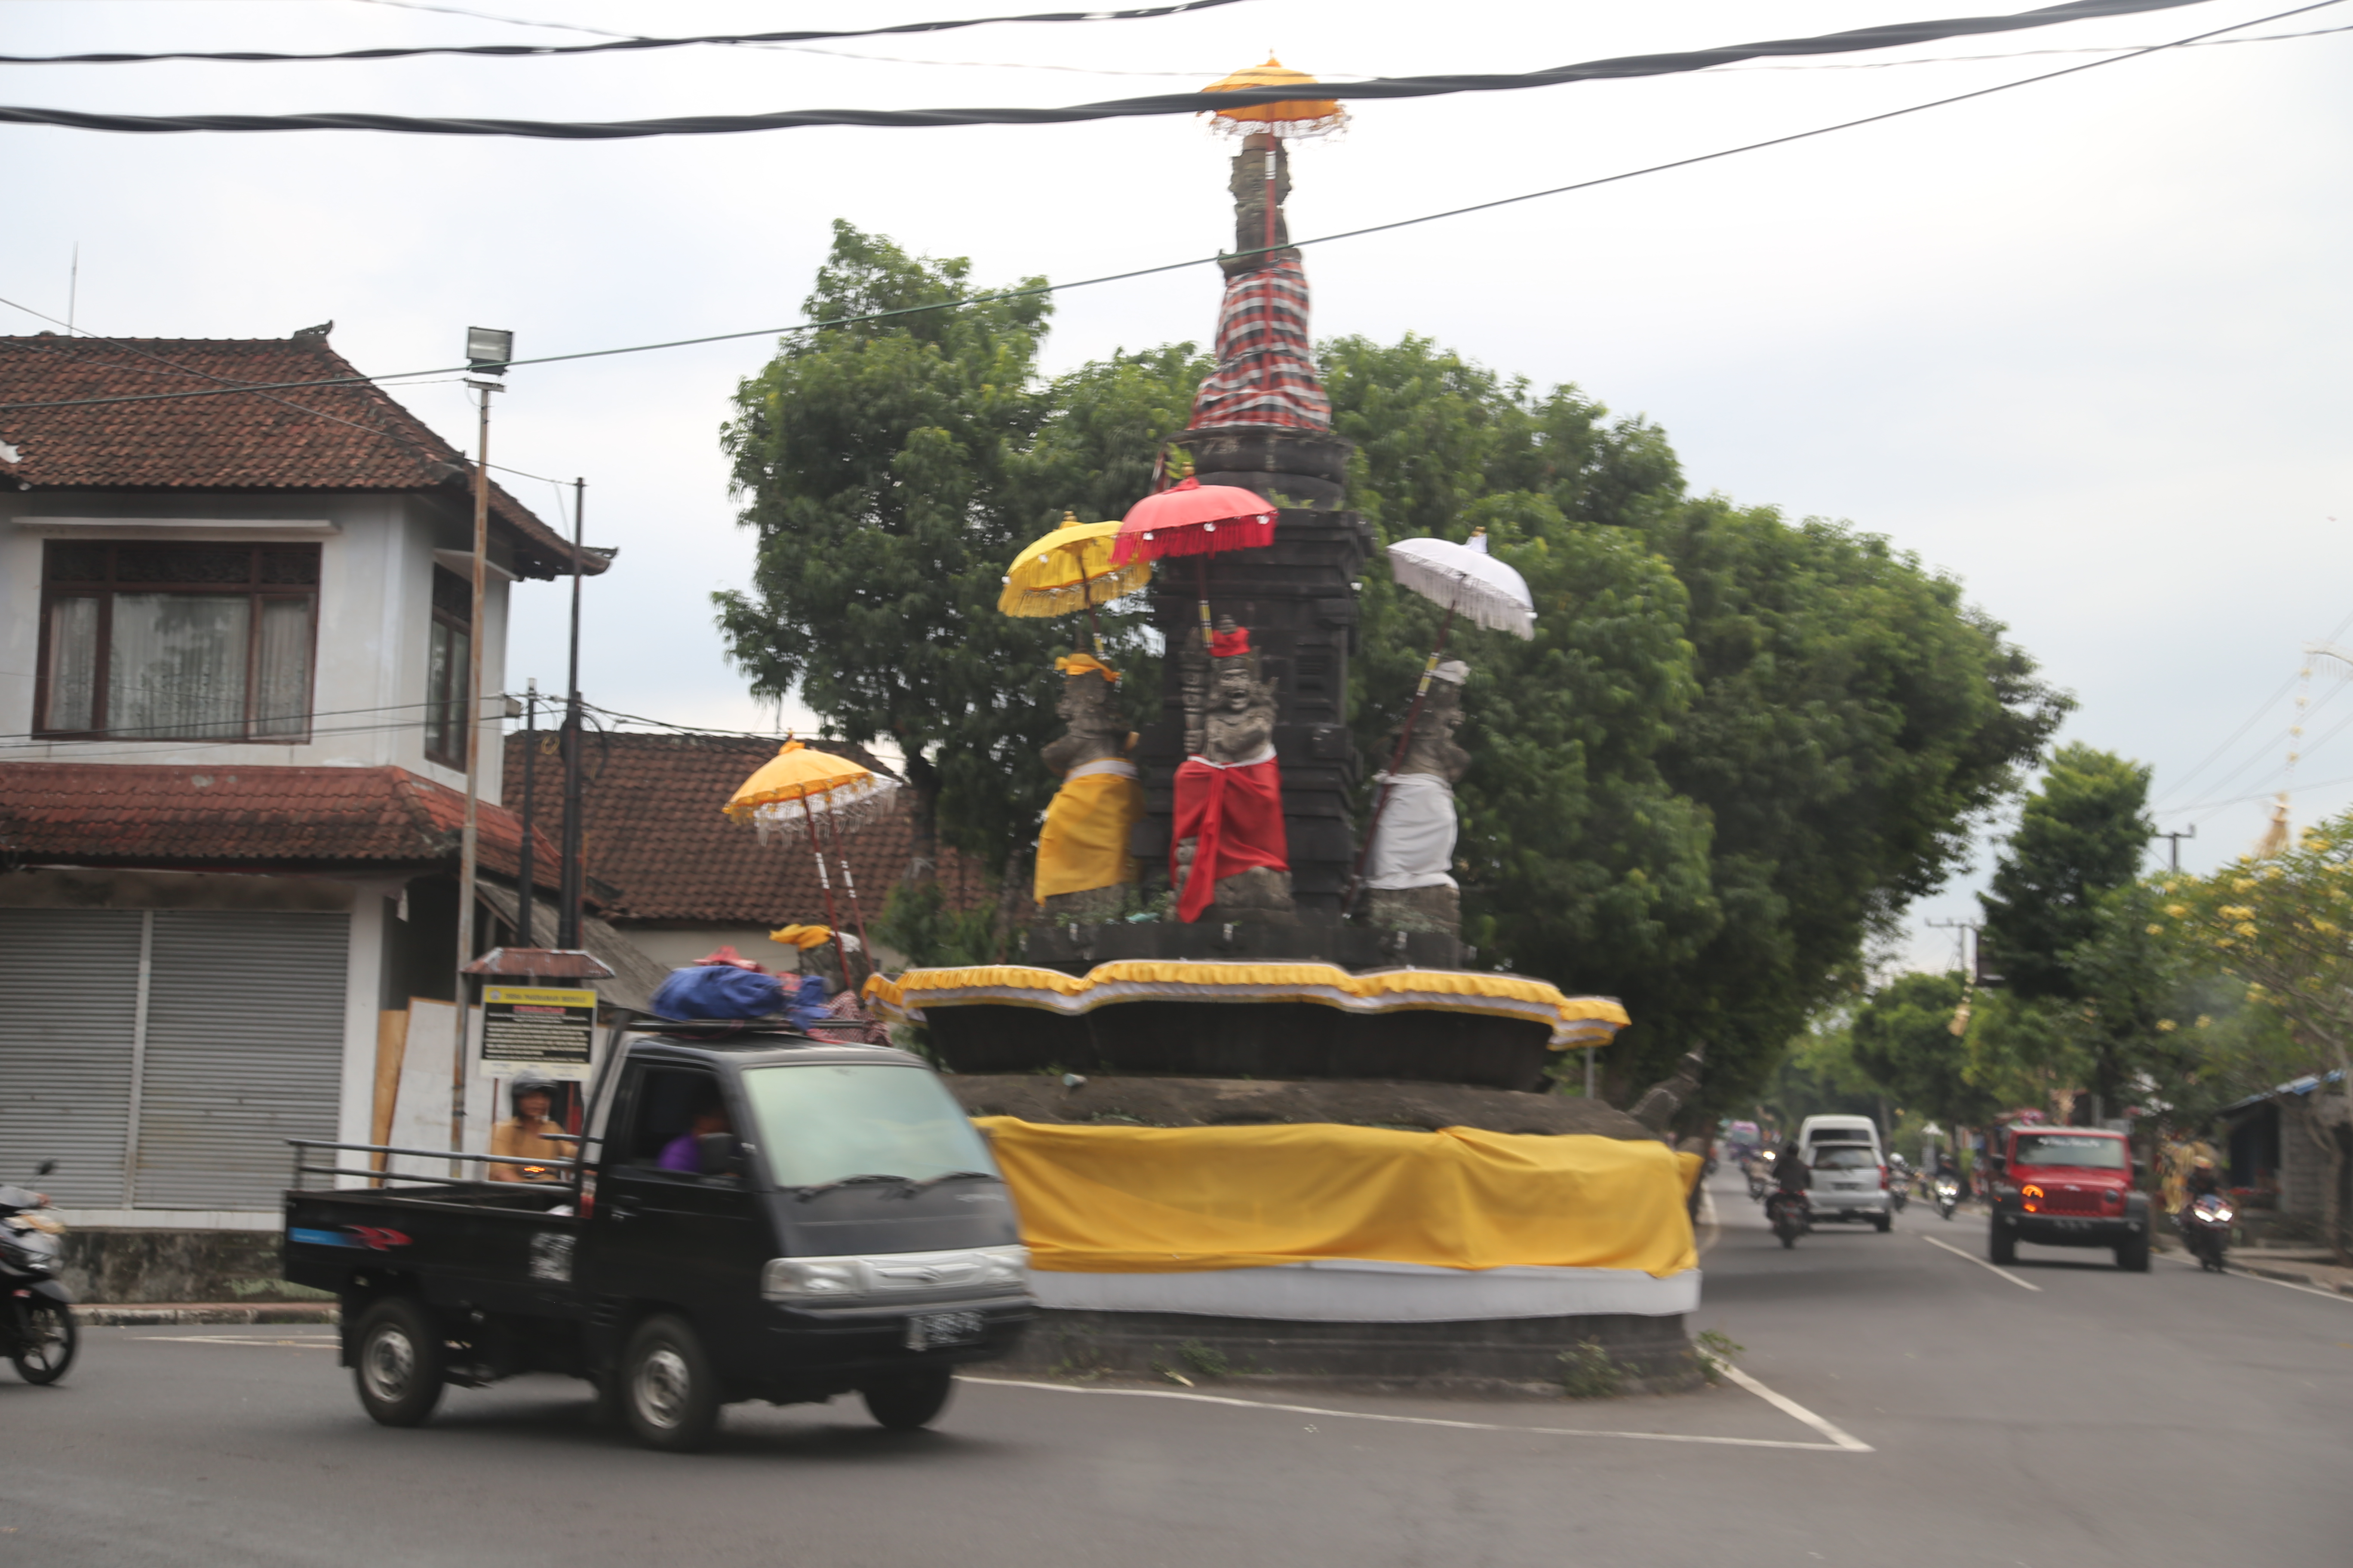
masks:
{"type": "Polygon", "coordinates": [[[122,1206],[139,1020],[136,910],[0,910],[0,1182],[122,1206]],[[56,1175],[33,1180],[33,1166],[56,1175]]]}

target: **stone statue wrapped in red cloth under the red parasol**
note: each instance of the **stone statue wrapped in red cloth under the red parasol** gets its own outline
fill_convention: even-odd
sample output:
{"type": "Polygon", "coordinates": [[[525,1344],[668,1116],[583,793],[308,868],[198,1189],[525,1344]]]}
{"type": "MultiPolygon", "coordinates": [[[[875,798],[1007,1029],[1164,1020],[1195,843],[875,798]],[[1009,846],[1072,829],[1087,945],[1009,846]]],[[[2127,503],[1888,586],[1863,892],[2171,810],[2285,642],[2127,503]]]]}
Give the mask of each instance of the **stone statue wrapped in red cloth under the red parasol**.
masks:
{"type": "MultiPolygon", "coordinates": [[[[1200,630],[1188,658],[1200,658],[1200,630]]],[[[1289,924],[1289,844],[1282,830],[1282,766],[1275,762],[1275,682],[1259,670],[1249,628],[1221,618],[1207,679],[1186,682],[1186,738],[1200,750],[1176,769],[1176,832],[1169,882],[1176,917],[1289,924]],[[1200,693],[1198,698],[1193,693],[1200,693]]]]}

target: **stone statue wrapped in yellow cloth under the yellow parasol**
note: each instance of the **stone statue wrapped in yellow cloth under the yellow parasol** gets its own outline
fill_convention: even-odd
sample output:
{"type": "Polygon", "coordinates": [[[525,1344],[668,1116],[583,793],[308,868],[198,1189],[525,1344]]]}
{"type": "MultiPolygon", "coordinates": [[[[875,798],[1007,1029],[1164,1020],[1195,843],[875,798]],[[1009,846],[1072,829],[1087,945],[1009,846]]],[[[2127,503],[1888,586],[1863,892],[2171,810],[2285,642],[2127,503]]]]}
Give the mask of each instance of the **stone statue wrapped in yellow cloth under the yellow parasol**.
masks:
{"type": "Polygon", "coordinates": [[[1056,658],[1054,668],[1054,712],[1071,729],[1038,752],[1061,773],[1061,788],[1038,832],[1033,893],[1052,924],[1118,919],[1136,882],[1127,839],[1144,818],[1144,785],[1127,759],[1134,736],[1115,701],[1120,675],[1089,654],[1056,658]]]}

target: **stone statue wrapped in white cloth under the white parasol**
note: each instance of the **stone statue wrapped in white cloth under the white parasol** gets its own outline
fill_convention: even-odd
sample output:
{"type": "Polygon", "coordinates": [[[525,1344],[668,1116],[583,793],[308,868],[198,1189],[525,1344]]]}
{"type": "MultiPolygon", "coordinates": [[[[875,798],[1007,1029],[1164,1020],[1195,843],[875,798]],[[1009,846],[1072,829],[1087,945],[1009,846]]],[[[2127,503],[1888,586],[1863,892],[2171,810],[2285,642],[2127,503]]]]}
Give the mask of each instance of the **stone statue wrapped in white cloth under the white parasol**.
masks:
{"type": "Polygon", "coordinates": [[[1388,795],[1365,851],[1365,919],[1384,931],[1461,936],[1461,889],[1454,884],[1454,780],[1471,752],[1454,741],[1464,722],[1471,665],[1449,658],[1431,672],[1431,693],[1395,773],[1379,773],[1388,795]]]}

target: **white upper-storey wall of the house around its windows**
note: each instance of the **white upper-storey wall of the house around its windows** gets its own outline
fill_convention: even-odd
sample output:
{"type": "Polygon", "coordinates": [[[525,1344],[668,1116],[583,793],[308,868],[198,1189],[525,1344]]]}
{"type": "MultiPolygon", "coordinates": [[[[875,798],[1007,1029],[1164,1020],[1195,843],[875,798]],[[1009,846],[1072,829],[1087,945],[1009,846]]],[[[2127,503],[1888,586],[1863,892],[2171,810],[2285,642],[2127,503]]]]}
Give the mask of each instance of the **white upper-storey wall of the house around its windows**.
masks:
{"type": "MultiPolygon", "coordinates": [[[[146,762],[221,766],[402,766],[464,788],[464,773],[426,762],[426,639],[433,621],[435,550],[459,569],[473,548],[471,515],[407,494],[151,494],[0,491],[0,733],[31,733],[40,668],[42,545],[49,538],[176,538],[318,543],[320,604],[304,743],[56,741],[19,745],[16,762],[146,762]]],[[[492,548],[499,567],[506,552],[492,548]]],[[[504,569],[489,574],[482,689],[506,689],[504,569]]],[[[499,722],[485,724],[496,748],[499,722]]],[[[485,766],[482,799],[499,799],[499,766],[485,766]]]]}

